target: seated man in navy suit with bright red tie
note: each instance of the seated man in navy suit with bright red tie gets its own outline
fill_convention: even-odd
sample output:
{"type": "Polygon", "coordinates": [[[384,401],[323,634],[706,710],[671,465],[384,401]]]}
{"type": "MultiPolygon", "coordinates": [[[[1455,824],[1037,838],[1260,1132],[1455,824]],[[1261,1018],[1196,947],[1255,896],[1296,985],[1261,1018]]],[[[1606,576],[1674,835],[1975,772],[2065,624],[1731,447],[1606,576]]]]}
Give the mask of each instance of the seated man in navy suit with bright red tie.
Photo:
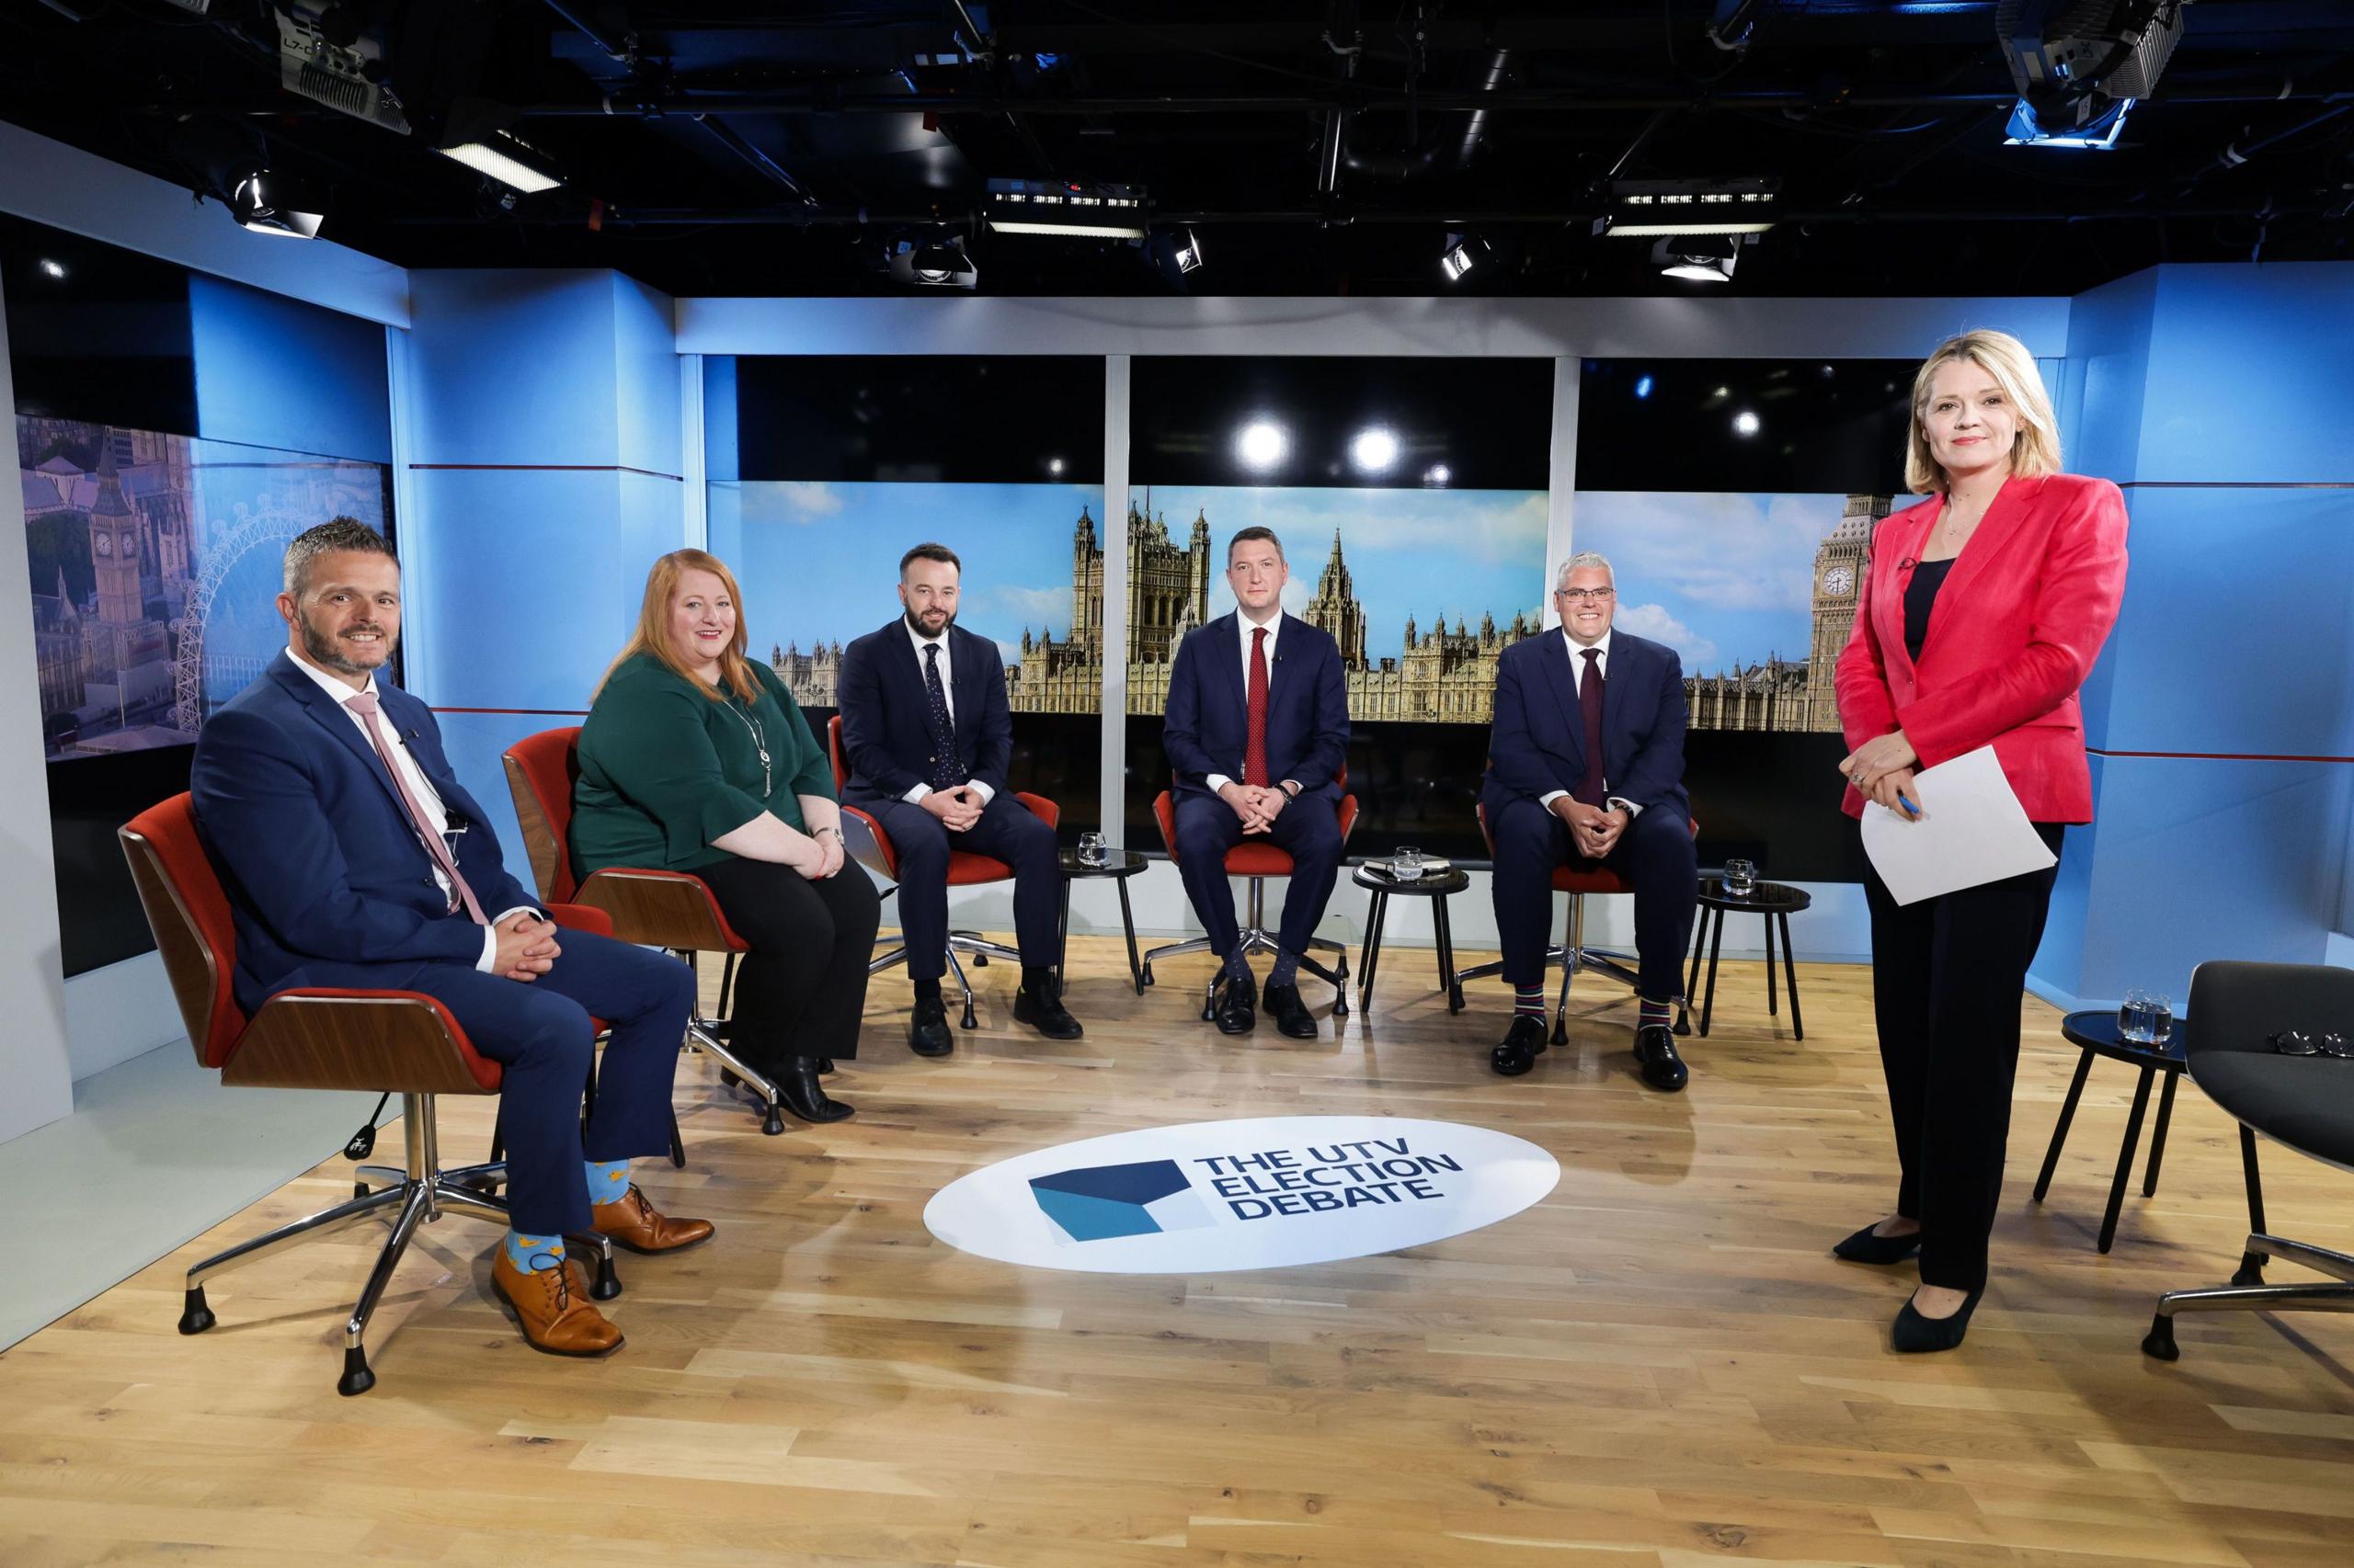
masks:
{"type": "Polygon", "coordinates": [[[1297,970],[1339,876],[1349,680],[1332,636],[1283,614],[1288,579],[1274,530],[1245,527],[1226,542],[1226,586],[1238,607],[1177,645],[1163,744],[1177,775],[1177,871],[1224,965],[1217,1026],[1248,1034],[1259,1022],[1226,850],[1266,838],[1290,852],[1292,878],[1262,1001],[1276,1029],[1314,1041],[1297,970]]]}

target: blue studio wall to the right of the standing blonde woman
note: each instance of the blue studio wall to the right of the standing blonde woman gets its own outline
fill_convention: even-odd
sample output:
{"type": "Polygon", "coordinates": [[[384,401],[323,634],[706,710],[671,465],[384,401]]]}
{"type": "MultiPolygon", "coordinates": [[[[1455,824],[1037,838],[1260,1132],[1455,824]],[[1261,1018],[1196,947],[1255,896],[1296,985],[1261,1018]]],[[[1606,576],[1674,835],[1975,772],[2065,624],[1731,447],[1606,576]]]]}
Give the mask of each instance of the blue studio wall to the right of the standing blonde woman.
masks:
{"type": "Polygon", "coordinates": [[[2180,1005],[2206,958],[2321,963],[2354,805],[2354,266],[2161,266],[2074,301],[2069,469],[2126,487],[2039,989],[2180,1005]]]}

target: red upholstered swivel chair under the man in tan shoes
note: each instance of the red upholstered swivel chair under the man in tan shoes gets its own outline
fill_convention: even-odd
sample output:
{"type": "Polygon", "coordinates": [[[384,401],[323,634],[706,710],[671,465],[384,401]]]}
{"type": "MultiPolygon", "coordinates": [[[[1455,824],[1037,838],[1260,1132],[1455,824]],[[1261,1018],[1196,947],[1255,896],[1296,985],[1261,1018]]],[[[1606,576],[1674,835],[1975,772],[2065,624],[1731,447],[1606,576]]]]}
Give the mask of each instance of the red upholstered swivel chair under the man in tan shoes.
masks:
{"type": "MultiPolygon", "coordinates": [[[[407,1165],[363,1165],[360,1184],[348,1203],[282,1224],[266,1236],[214,1253],[188,1269],[188,1295],[179,1333],[200,1335],[212,1328],[205,1281],[242,1269],[299,1241],[330,1236],[370,1217],[393,1222],[393,1234],[367,1274],[351,1318],[344,1323],[344,1377],[339,1394],[365,1394],[377,1375],[367,1368],[367,1321],[384,1300],[384,1288],[400,1264],[419,1224],[443,1215],[468,1215],[506,1224],[506,1198],[483,1187],[497,1187],[499,1165],[443,1170],[433,1135],[435,1095],[497,1095],[499,1064],[476,1055],[450,1010],[419,991],[280,991],[245,1017],[231,986],[238,968],[238,932],[228,916],[228,895],[205,857],[195,833],[195,810],[186,793],[139,812],[118,831],[122,855],[132,864],[139,904],[155,930],[165,975],[179,998],[181,1022],[195,1059],[221,1074],[231,1088],[311,1088],[400,1095],[400,1125],[407,1135],[407,1165]],[[393,1177],[388,1187],[370,1189],[367,1177],[393,1177]]],[[[551,904],[558,925],[574,930],[607,928],[596,909],[551,904]]],[[[603,1236],[574,1236],[581,1257],[596,1257],[591,1295],[612,1300],[621,1283],[612,1271],[612,1243],[603,1236]]]]}

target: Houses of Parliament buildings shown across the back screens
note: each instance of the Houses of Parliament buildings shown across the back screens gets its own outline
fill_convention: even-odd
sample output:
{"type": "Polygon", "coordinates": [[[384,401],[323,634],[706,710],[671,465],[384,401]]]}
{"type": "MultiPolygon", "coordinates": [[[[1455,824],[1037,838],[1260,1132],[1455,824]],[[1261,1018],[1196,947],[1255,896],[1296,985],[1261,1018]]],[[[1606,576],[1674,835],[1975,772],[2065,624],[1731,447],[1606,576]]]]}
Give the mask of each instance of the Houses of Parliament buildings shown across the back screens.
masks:
{"type": "MultiPolygon", "coordinates": [[[[1871,525],[1890,511],[1888,497],[1848,497],[1838,525],[1815,549],[1813,643],[1806,659],[1766,659],[1714,676],[1688,676],[1685,702],[1695,730],[1838,730],[1831,666],[1855,624],[1871,525]]],[[[1080,509],[1071,530],[1071,631],[1022,631],[1022,652],[1005,664],[1005,697],[1015,713],[1095,713],[1104,692],[1104,549],[1095,518],[1080,509]]],[[[1128,509],[1128,711],[1168,706],[1170,659],[1186,631],[1210,617],[1210,518],[1196,513],[1184,539],[1168,518],[1128,509]]],[[[1483,725],[1495,706],[1495,664],[1511,643],[1535,636],[1544,617],[1516,610],[1511,622],[1481,617],[1471,629],[1459,614],[1450,629],[1436,617],[1427,629],[1405,619],[1403,650],[1375,657],[1365,605],[1356,598],[1342,539],[1316,574],[1316,593],[1299,619],[1339,643],[1349,678],[1351,720],[1483,725]]],[[[772,647],[770,664],[803,706],[831,709],[840,678],[840,643],[772,647]]]]}

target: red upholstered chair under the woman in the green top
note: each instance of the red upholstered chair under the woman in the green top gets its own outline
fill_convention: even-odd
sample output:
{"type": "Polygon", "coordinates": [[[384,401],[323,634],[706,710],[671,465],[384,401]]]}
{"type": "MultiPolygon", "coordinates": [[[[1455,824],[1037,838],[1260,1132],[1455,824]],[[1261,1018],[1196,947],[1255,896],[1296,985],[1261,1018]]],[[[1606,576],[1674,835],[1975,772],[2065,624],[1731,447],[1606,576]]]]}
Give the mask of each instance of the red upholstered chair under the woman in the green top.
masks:
{"type": "MultiPolygon", "coordinates": [[[[734,979],[734,961],[751,951],[720,902],[711,897],[704,878],[687,871],[654,871],[638,866],[605,866],[586,878],[572,876],[572,784],[581,777],[579,725],[565,730],[541,730],[525,735],[506,749],[506,789],[516,798],[516,819],[523,824],[523,852],[532,862],[532,883],[541,899],[558,899],[603,909],[612,918],[612,935],[640,946],[666,946],[694,965],[697,954],[727,954],[720,975],[720,1012],[727,1012],[727,986],[734,979]]],[[[760,1130],[770,1137],[784,1132],[784,1107],[777,1085],[765,1074],[744,1067],[727,1045],[727,1024],[701,1015],[687,1015],[687,1041],[718,1057],[744,1088],[760,1099],[760,1130]]],[[[687,1156],[678,1144],[678,1128],[671,1128],[671,1163],[685,1165],[687,1156]]]]}

